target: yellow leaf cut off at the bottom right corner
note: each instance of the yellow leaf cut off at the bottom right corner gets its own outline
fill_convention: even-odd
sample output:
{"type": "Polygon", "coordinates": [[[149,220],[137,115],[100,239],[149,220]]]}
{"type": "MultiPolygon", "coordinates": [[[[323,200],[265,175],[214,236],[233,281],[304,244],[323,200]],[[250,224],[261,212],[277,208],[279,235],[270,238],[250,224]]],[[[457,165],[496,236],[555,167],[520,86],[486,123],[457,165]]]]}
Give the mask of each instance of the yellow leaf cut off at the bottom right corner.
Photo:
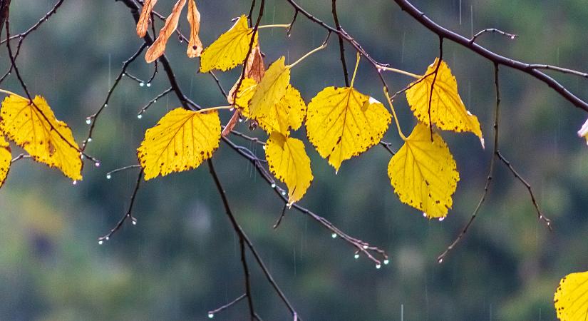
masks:
{"type": "Polygon", "coordinates": [[[566,275],[553,297],[557,318],[562,321],[585,321],[588,317],[588,272],[566,275]]]}

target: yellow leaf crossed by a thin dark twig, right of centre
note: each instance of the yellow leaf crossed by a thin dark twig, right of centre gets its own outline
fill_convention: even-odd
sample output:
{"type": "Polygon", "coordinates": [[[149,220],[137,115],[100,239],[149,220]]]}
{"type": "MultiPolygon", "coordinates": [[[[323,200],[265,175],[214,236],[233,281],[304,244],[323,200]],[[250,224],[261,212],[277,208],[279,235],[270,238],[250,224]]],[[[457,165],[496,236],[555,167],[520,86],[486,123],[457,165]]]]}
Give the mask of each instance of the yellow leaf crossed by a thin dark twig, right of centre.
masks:
{"type": "Polygon", "coordinates": [[[441,61],[435,76],[438,62],[439,58],[436,58],[435,62],[427,68],[425,76],[413,82],[413,86],[406,91],[406,100],[411,106],[411,110],[418,121],[428,126],[430,100],[430,121],[435,123],[438,128],[458,133],[472,132],[480,138],[480,143],[484,147],[484,138],[478,118],[465,109],[458,93],[458,82],[451,74],[445,61],[441,61]],[[431,97],[430,88],[433,79],[435,79],[435,83],[433,97],[431,97]]]}

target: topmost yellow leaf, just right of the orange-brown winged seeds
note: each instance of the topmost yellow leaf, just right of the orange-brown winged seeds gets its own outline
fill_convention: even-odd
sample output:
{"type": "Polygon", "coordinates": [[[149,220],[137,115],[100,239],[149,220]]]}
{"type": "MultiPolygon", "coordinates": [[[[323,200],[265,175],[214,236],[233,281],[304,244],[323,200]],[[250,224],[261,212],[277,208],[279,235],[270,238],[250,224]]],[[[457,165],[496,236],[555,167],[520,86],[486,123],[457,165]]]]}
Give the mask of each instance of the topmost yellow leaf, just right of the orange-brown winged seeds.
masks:
{"type": "MultiPolygon", "coordinates": [[[[200,56],[200,72],[212,69],[227,71],[243,63],[249,51],[253,29],[247,26],[247,16],[242,15],[225,34],[215,40],[200,56]]],[[[253,46],[257,46],[257,33],[253,46]]]]}

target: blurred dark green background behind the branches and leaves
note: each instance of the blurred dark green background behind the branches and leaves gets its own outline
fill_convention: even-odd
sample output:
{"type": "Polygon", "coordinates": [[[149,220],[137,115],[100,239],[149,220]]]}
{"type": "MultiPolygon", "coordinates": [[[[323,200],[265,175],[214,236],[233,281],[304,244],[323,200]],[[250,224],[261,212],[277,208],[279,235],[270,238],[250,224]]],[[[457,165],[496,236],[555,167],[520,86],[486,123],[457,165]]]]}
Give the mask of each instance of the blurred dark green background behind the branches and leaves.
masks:
{"type": "MultiPolygon", "coordinates": [[[[54,1],[12,1],[11,29],[26,30],[54,1]]],[[[519,35],[496,34],[479,40],[488,48],[522,61],[588,70],[586,21],[582,0],[414,0],[435,21],[471,36],[496,27],[519,35]]],[[[339,0],[344,29],[378,61],[423,73],[438,55],[438,39],[393,1],[339,0]]],[[[249,1],[199,1],[205,46],[247,13],[249,1]]],[[[332,24],[331,1],[299,4],[332,24]]],[[[172,1],[159,1],[167,15],[172,1]]],[[[293,10],[286,1],[266,4],[263,24],[287,24],[293,10]]],[[[182,14],[181,30],[187,31],[182,14]]],[[[158,26],[161,26],[158,21],[158,26]]],[[[322,29],[299,16],[292,36],[283,29],[260,35],[266,62],[279,56],[295,61],[321,44],[322,29]]],[[[16,44],[16,43],[15,43],[16,44]]],[[[120,2],[66,0],[57,14],[25,41],[19,65],[29,90],[42,94],[82,141],[86,116],[103,103],[122,61],[140,46],[130,11],[120,2]]],[[[184,91],[202,106],[225,99],[208,75],[197,73],[198,59],[185,56],[185,43],[172,36],[167,56],[184,91]]],[[[349,49],[349,48],[348,48],[349,49]]],[[[586,270],[588,251],[588,151],[576,131],[586,114],[544,84],[502,68],[501,151],[532,183],[538,202],[554,220],[550,233],[537,221],[527,190],[501,163],[478,220],[446,261],[436,257],[459,233],[483,191],[492,151],[494,87],[492,64],[445,41],[444,57],[458,79],[468,109],[480,119],[487,149],[471,134],[445,132],[460,170],[453,210],[440,223],[426,220],[400,203],[386,167],[390,155],[380,146],[346,161],[335,175],[306,143],[314,182],[300,202],[350,235],[378,245],[391,256],[376,270],[366,258],[329,231],[296,211],[273,230],[282,203],[254,169],[221,144],[214,161],[229,200],[269,270],[304,320],[553,320],[552,297],[559,279],[586,270]]],[[[348,54],[349,68],[354,53],[348,54]]],[[[0,70],[8,66],[0,53],[0,70]]],[[[153,66],[138,59],[130,72],[148,78],[153,66]]],[[[240,70],[240,69],[239,69],[240,70]]],[[[230,88],[239,70],[220,75],[230,88]]],[[[572,92],[587,98],[586,79],[555,74],[572,92]]],[[[393,89],[411,81],[386,74],[393,89]]],[[[292,71],[292,83],[306,102],[343,78],[336,39],[292,71]]],[[[23,160],[14,163],[0,191],[1,320],[206,320],[207,311],[244,292],[238,240],[223,212],[207,168],[149,181],[139,190],[138,225],[125,225],[104,245],[105,234],[128,206],[136,171],[113,175],[114,168],[136,163],[135,148],[146,128],[178,105],[160,99],[142,119],[138,110],[167,88],[159,73],[153,86],[123,78],[98,119],[77,185],[56,170],[23,160]]],[[[14,75],[2,88],[21,93],[14,75]]],[[[356,88],[383,101],[373,69],[363,61],[356,88]]],[[[404,131],[415,121],[404,98],[396,101],[404,131]]],[[[229,113],[223,114],[225,122],[229,113]]],[[[249,133],[244,124],[239,130],[249,133]]],[[[255,131],[249,133],[264,138],[255,131]]],[[[304,129],[295,136],[304,137],[304,129]]],[[[398,149],[391,129],[384,138],[398,149]]],[[[261,148],[235,142],[263,156],[261,148]]],[[[14,148],[14,154],[19,150],[14,148]]],[[[264,320],[292,320],[259,269],[251,264],[254,304],[264,320]]],[[[246,303],[215,320],[245,320],[246,303]]]]}

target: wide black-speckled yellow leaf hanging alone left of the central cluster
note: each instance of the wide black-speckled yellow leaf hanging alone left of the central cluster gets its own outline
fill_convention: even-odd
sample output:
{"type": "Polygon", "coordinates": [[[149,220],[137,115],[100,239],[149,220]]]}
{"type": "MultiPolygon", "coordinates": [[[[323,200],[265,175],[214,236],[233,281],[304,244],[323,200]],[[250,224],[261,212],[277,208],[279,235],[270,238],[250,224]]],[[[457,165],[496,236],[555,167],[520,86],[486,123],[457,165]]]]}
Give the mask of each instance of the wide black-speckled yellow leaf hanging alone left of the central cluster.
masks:
{"type": "Polygon", "coordinates": [[[200,113],[175,108],[145,132],[137,149],[145,180],[197,168],[212,156],[219,141],[217,111],[200,113]]]}

